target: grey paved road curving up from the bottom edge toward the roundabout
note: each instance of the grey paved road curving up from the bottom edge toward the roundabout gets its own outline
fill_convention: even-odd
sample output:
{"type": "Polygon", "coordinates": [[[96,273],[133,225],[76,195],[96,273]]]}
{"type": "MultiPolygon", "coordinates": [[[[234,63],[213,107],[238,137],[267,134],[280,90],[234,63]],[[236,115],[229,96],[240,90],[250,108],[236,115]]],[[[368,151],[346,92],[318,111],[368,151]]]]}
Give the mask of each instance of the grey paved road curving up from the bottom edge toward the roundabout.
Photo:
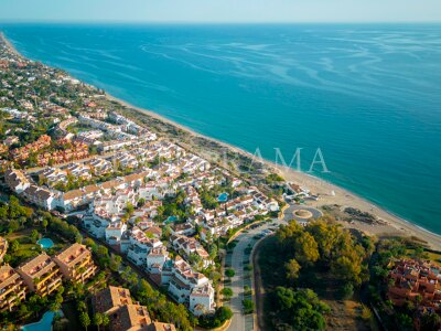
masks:
{"type": "MultiPolygon", "coordinates": [[[[235,270],[235,277],[232,279],[232,284],[229,287],[233,290],[233,297],[229,301],[228,306],[232,308],[234,316],[232,323],[229,324],[228,330],[232,331],[250,331],[252,330],[252,314],[245,316],[243,313],[243,305],[244,300],[244,285],[247,282],[247,279],[244,278],[244,259],[248,258],[248,255],[245,253],[245,249],[250,245],[252,247],[257,238],[254,238],[256,235],[262,233],[262,231],[280,226],[280,224],[287,224],[289,221],[294,220],[293,212],[295,210],[308,210],[313,214],[313,217],[319,217],[322,215],[320,211],[313,207],[304,206],[304,205],[290,205],[286,211],[282,220],[272,220],[272,222],[265,222],[263,225],[248,229],[247,232],[243,232],[240,235],[236,237],[237,245],[233,249],[233,254],[230,256],[227,255],[226,263],[229,264],[228,267],[235,270]]],[[[228,287],[228,286],[226,286],[228,287]]],[[[250,288],[252,288],[250,286],[250,288]]]]}

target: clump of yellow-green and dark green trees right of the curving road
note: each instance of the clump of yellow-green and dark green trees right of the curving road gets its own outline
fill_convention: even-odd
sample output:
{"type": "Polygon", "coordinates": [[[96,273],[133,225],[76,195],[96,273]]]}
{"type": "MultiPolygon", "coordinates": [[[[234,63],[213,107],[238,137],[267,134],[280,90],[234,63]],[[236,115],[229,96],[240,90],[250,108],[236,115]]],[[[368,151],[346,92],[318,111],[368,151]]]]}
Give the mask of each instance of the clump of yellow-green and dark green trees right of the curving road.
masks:
{"type": "Polygon", "coordinates": [[[267,241],[260,269],[269,329],[323,330],[330,308],[319,296],[349,298],[368,280],[374,244],[368,237],[356,239],[330,217],[306,227],[292,222],[267,241]]]}

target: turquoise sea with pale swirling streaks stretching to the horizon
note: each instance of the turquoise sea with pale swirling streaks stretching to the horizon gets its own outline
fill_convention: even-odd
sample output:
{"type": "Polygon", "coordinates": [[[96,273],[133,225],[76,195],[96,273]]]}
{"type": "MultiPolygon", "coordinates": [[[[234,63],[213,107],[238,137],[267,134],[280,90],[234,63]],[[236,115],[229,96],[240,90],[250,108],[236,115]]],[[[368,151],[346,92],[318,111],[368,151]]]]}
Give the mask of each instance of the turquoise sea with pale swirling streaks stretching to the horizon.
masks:
{"type": "Polygon", "coordinates": [[[24,55],[441,234],[441,25],[2,24],[24,55]]]}

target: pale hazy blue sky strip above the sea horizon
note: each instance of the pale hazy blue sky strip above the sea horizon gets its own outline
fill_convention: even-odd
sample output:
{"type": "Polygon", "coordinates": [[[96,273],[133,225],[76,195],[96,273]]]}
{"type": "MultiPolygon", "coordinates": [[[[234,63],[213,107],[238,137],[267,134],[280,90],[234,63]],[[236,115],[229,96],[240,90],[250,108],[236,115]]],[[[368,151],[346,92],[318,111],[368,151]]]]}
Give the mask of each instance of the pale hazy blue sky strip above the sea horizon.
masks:
{"type": "Polygon", "coordinates": [[[441,0],[0,0],[0,21],[441,21],[441,0]]]}

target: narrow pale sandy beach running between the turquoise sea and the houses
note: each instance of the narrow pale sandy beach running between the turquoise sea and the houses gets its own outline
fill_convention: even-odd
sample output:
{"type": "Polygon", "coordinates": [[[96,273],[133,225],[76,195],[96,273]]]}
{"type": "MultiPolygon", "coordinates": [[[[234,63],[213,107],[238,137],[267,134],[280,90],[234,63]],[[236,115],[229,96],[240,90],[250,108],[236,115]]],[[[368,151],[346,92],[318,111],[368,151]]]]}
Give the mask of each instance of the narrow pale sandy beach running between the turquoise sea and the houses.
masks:
{"type": "MultiPolygon", "coordinates": [[[[17,49],[11,44],[11,42],[7,39],[3,32],[0,32],[0,39],[4,41],[4,43],[10,47],[12,52],[14,52],[17,55],[20,57],[24,57],[21,55],[17,49]]],[[[71,73],[68,73],[72,75],[71,73]]],[[[122,100],[118,97],[115,97],[107,92],[105,92],[105,97],[109,102],[115,102],[128,109],[132,109],[137,111],[138,114],[141,114],[143,116],[150,116],[161,122],[168,124],[174,128],[179,128],[186,134],[189,134],[191,137],[197,137],[201,139],[204,139],[206,141],[215,142],[224,148],[226,148],[229,151],[234,151],[236,153],[239,153],[241,156],[245,156],[247,158],[252,158],[254,154],[250,152],[233,146],[230,143],[224,142],[219,139],[211,138],[205,135],[198,134],[194,131],[193,129],[181,125],[179,122],[175,122],[174,120],[168,119],[164,116],[159,115],[158,113],[142,108],[142,107],[137,107],[131,105],[130,103],[122,100]]],[[[176,137],[175,139],[178,139],[176,137]]],[[[209,153],[209,152],[208,152],[209,153]]],[[[319,194],[320,200],[319,201],[308,201],[305,205],[309,206],[314,206],[314,207],[321,207],[323,205],[332,205],[336,204],[342,207],[356,207],[363,212],[368,212],[373,215],[375,215],[377,218],[380,218],[387,223],[387,225],[368,225],[365,223],[359,223],[356,222],[355,224],[349,224],[347,222],[338,222],[343,226],[347,228],[355,228],[362,232],[365,232],[368,235],[376,235],[378,237],[387,237],[387,236],[401,236],[401,237],[410,237],[415,236],[418,237],[422,241],[424,241],[430,248],[435,249],[435,250],[441,250],[441,235],[432,233],[417,224],[411,223],[410,221],[407,221],[400,216],[397,216],[392,214],[391,212],[385,210],[384,207],[377,206],[374,203],[369,202],[367,199],[359,196],[347,189],[341,188],[336,184],[333,184],[329,181],[325,181],[319,177],[314,177],[309,173],[304,172],[299,172],[295,171],[294,169],[286,168],[280,164],[276,164],[275,162],[266,159],[259,159],[259,161],[262,161],[267,167],[276,169],[277,172],[279,172],[286,181],[289,182],[295,182],[297,184],[304,186],[309,189],[312,193],[319,194]],[[335,195],[331,195],[331,192],[334,191],[335,195]]]]}

